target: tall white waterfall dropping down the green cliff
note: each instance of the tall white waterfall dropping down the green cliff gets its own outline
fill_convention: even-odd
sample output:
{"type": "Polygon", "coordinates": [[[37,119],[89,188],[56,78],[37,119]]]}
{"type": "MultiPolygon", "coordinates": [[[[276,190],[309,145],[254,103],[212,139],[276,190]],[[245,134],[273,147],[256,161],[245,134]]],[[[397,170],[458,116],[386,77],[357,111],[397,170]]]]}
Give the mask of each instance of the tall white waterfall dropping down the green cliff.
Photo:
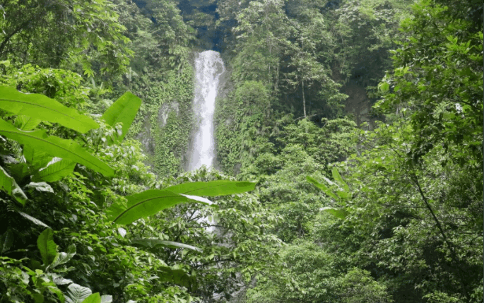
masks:
{"type": "Polygon", "coordinates": [[[220,76],[225,66],[218,52],[211,50],[197,54],[195,59],[195,87],[193,109],[196,130],[191,142],[189,170],[202,165],[211,167],[215,158],[213,114],[220,76]]]}

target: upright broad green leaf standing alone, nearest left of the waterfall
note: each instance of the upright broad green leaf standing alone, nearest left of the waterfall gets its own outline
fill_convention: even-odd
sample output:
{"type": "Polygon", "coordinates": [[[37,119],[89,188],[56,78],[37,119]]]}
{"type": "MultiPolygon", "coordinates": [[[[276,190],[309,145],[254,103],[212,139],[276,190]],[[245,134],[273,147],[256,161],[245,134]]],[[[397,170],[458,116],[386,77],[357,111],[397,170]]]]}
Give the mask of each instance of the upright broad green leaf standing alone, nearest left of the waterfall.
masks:
{"type": "Polygon", "coordinates": [[[102,115],[102,119],[110,126],[114,126],[119,122],[123,124],[122,134],[117,140],[122,141],[124,136],[126,136],[140,106],[141,99],[132,93],[126,92],[102,115]]]}

